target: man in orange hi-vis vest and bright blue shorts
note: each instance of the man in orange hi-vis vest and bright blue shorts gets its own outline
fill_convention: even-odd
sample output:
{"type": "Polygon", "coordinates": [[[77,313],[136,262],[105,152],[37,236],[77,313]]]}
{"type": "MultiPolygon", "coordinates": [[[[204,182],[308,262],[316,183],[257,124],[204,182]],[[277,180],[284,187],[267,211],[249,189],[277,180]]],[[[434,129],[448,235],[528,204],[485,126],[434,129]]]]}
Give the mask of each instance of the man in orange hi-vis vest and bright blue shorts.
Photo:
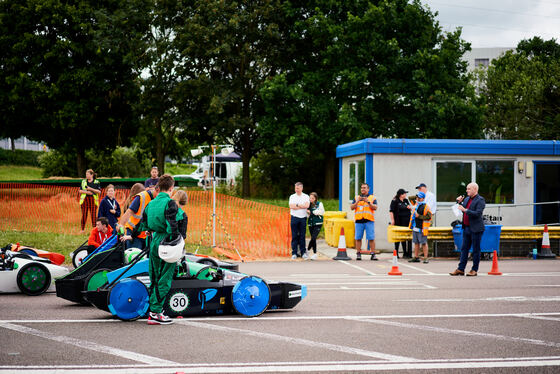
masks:
{"type": "Polygon", "coordinates": [[[369,185],[362,183],[360,186],[360,195],[352,200],[350,209],[355,210],[354,225],[356,231],[356,260],[362,259],[362,238],[364,231],[366,239],[369,242],[371,250],[371,259],[377,261],[375,257],[375,217],[374,212],[377,210],[377,199],[369,194],[369,185]]]}

